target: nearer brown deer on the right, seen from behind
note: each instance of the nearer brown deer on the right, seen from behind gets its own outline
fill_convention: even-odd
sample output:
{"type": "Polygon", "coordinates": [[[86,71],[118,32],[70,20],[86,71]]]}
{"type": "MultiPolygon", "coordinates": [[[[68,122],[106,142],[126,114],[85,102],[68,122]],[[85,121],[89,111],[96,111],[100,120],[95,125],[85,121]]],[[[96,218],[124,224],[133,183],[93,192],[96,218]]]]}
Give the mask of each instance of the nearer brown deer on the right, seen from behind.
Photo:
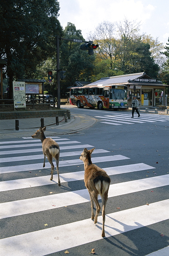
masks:
{"type": "Polygon", "coordinates": [[[89,192],[90,200],[91,200],[91,208],[92,208],[92,220],[94,219],[94,223],[97,223],[97,217],[100,212],[100,205],[98,202],[98,195],[102,198],[102,217],[103,217],[103,225],[102,225],[102,237],[105,237],[105,208],[108,198],[108,190],[110,186],[110,177],[107,173],[93,164],[91,161],[91,154],[95,150],[95,148],[91,150],[87,150],[84,148],[80,159],[84,162],[84,182],[85,186],[89,192]],[[96,204],[96,215],[94,217],[94,204],[96,204]]]}

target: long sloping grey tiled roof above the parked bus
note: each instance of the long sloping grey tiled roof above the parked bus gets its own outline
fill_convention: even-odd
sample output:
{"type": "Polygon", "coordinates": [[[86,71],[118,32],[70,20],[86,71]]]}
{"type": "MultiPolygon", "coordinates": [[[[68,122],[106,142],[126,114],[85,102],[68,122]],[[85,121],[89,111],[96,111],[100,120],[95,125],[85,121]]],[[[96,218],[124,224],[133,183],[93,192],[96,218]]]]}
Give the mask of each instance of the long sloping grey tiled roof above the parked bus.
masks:
{"type": "Polygon", "coordinates": [[[90,85],[127,83],[128,80],[133,80],[133,79],[142,77],[143,75],[145,75],[145,72],[115,76],[115,77],[104,77],[96,82],[90,83],[90,85]]]}

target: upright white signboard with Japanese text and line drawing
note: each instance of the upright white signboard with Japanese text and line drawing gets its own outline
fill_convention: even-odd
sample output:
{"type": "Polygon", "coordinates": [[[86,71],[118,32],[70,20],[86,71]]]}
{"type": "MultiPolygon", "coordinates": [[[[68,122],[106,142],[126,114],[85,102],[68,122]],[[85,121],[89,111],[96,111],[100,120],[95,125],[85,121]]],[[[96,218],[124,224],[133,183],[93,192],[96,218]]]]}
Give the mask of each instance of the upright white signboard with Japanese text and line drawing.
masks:
{"type": "Polygon", "coordinates": [[[14,110],[15,108],[26,109],[25,82],[13,82],[14,110]]]}

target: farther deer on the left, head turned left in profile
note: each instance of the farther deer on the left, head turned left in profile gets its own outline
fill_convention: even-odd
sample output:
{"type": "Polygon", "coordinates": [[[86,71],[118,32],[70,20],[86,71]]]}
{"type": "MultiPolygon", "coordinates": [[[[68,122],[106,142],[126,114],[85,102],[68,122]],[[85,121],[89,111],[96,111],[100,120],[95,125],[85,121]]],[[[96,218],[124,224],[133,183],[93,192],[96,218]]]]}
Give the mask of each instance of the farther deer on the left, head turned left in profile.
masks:
{"type": "Polygon", "coordinates": [[[52,162],[52,159],[54,158],[56,161],[57,166],[57,172],[58,172],[58,186],[60,187],[60,179],[59,179],[59,154],[60,154],[60,148],[58,143],[56,143],[52,138],[46,138],[44,135],[44,132],[46,131],[46,126],[43,128],[40,127],[35,134],[32,135],[32,138],[40,139],[42,142],[42,151],[44,155],[44,163],[43,167],[45,167],[45,159],[48,158],[49,163],[51,164],[51,178],[53,179],[53,170],[54,170],[54,164],[52,162]]]}

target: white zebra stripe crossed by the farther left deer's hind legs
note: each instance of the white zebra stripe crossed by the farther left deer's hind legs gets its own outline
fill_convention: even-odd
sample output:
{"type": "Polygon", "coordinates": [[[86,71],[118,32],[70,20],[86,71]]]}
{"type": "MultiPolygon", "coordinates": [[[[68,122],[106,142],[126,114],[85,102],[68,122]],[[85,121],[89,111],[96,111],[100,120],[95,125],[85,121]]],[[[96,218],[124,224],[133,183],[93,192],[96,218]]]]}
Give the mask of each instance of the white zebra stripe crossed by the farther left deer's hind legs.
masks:
{"type": "MultiPolygon", "coordinates": [[[[129,173],[129,172],[136,172],[140,170],[148,170],[154,169],[147,164],[129,164],[129,165],[122,165],[122,166],[115,166],[115,167],[107,167],[103,168],[108,175],[115,175],[121,173],[129,173]]],[[[83,180],[84,179],[84,171],[80,172],[72,172],[72,173],[61,173],[60,175],[60,182],[71,182],[75,180],[83,180]]],[[[26,179],[17,179],[17,180],[7,180],[0,182],[0,191],[8,191],[13,189],[21,189],[21,188],[30,188],[30,187],[37,187],[37,186],[44,186],[53,184],[53,181],[57,183],[58,176],[53,176],[53,181],[50,180],[51,175],[41,176],[41,177],[33,177],[33,178],[26,178],[26,179]]]]}

